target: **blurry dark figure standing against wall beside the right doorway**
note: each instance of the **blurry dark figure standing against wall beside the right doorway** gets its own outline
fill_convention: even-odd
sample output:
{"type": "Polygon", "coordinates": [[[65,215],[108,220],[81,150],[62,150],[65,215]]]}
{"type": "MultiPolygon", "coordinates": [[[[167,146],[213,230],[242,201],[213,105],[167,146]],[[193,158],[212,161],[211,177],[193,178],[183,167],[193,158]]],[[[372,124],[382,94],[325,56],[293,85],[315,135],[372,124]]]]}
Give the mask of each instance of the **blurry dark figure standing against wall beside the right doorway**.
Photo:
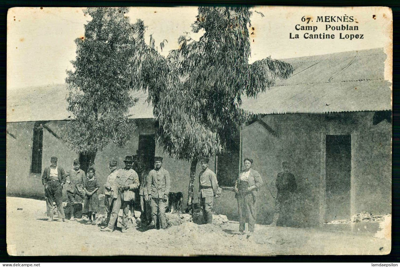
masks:
{"type": "Polygon", "coordinates": [[[276,188],[278,189],[277,200],[279,213],[278,221],[276,226],[292,226],[294,225],[293,217],[293,201],[294,191],[297,189],[296,179],[294,175],[290,173],[289,162],[282,162],[283,171],[278,173],[276,177],[276,188]]]}

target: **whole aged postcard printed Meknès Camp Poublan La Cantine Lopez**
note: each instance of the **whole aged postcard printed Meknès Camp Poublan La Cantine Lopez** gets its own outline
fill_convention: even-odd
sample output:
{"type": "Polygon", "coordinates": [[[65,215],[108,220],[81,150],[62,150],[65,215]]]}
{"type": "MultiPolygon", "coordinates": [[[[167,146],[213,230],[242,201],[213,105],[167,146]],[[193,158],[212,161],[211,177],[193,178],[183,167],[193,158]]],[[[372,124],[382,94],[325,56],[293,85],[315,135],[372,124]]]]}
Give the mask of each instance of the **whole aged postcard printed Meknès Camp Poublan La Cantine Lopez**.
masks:
{"type": "Polygon", "coordinates": [[[10,255],[384,255],[392,10],[10,8],[10,255]]]}

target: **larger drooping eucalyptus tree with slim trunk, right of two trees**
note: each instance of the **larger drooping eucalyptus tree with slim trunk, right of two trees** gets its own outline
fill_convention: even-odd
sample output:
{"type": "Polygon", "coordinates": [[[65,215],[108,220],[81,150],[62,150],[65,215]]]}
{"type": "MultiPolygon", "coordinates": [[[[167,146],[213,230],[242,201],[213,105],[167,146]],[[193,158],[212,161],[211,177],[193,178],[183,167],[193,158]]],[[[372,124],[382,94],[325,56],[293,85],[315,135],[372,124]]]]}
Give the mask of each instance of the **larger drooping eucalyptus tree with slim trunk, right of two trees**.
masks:
{"type": "MultiPolygon", "coordinates": [[[[243,97],[268,90],[275,79],[286,79],[292,66],[264,58],[249,64],[251,26],[247,7],[199,7],[193,32],[164,60],[142,68],[143,88],[154,105],[158,143],[171,157],[190,161],[188,208],[193,203],[196,165],[201,156],[226,150],[252,116],[241,109],[243,97]]],[[[154,50],[154,48],[153,48],[154,50]]]]}

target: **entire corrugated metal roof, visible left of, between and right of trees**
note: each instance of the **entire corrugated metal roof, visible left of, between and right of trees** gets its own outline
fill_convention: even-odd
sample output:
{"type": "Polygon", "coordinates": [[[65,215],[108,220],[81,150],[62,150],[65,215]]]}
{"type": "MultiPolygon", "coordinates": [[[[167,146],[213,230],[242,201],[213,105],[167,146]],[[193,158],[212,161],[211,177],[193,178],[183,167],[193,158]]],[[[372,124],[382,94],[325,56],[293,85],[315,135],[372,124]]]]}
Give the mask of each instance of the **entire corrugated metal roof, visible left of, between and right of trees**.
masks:
{"type": "MultiPolygon", "coordinates": [[[[384,80],[382,49],[289,58],[293,75],[277,80],[242,108],[256,114],[392,110],[390,82],[384,80]]],[[[132,118],[154,118],[147,94],[134,92],[132,118]]],[[[66,120],[65,84],[7,90],[7,122],[66,120]]]]}

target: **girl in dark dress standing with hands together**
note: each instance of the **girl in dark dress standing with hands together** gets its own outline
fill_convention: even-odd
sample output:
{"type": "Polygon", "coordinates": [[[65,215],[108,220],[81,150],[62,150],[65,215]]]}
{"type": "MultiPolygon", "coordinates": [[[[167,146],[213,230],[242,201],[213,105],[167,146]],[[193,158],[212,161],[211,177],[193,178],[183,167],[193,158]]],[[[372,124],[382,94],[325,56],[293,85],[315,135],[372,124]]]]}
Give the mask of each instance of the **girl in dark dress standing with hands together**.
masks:
{"type": "Polygon", "coordinates": [[[95,175],[95,170],[94,168],[89,168],[88,176],[83,183],[83,189],[86,192],[83,204],[83,213],[86,213],[89,219],[86,224],[96,225],[96,213],[99,209],[99,198],[97,195],[97,191],[99,188],[100,183],[95,175]]]}

